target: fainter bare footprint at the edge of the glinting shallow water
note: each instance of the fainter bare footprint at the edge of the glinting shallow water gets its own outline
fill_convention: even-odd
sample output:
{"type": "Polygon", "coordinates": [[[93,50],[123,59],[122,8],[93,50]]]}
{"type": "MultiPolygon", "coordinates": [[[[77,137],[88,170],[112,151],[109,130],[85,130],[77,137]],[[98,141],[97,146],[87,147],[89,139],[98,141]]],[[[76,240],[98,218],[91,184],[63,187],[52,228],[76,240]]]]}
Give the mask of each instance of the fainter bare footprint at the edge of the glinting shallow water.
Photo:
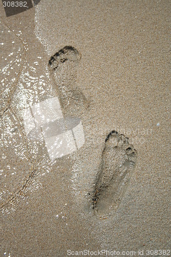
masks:
{"type": "Polygon", "coordinates": [[[48,69],[57,86],[64,114],[82,113],[88,107],[88,101],[77,87],[77,69],[80,54],[72,46],[65,46],[49,60],[48,69]]]}

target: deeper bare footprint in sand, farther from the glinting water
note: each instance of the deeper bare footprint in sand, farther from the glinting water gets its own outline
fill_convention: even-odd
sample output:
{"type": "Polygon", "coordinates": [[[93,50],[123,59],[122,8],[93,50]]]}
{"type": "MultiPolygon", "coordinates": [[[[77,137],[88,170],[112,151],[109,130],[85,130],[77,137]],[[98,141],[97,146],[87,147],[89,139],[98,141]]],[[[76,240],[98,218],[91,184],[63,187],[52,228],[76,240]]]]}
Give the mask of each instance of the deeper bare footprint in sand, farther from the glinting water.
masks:
{"type": "Polygon", "coordinates": [[[105,140],[102,162],[94,183],[92,208],[100,215],[116,211],[128,188],[137,152],[128,138],[112,131],[105,140]]]}

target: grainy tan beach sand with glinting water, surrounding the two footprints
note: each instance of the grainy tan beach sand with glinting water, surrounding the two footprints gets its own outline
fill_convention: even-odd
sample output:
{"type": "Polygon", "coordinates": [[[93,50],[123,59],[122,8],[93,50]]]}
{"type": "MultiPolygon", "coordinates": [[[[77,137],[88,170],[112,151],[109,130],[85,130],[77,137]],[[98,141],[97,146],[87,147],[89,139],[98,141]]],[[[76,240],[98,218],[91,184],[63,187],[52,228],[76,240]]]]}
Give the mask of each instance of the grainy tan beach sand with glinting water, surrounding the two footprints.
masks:
{"type": "Polygon", "coordinates": [[[169,249],[169,20],[169,1],[41,0],[10,17],[1,3],[1,256],[169,249]],[[81,54],[85,144],[50,161],[23,114],[56,96],[47,65],[66,45],[81,54]],[[113,129],[138,158],[117,212],[101,218],[88,192],[113,129]]]}

